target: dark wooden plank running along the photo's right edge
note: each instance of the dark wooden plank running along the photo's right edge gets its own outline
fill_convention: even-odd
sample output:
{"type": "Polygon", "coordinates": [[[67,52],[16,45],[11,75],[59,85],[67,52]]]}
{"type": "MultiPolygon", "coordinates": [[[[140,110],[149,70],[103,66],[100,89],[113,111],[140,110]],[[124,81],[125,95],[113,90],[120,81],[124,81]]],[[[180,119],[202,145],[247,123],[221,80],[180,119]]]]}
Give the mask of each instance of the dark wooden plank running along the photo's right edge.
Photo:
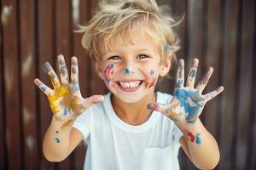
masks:
{"type": "Polygon", "coordinates": [[[252,104],[252,73],[253,66],[248,65],[253,62],[253,25],[254,25],[254,1],[242,1],[242,18],[241,18],[241,51],[239,53],[240,59],[240,82],[238,90],[238,122],[236,134],[236,168],[242,169],[246,167],[247,163],[247,143],[249,135],[250,120],[250,105],[252,104]]]}

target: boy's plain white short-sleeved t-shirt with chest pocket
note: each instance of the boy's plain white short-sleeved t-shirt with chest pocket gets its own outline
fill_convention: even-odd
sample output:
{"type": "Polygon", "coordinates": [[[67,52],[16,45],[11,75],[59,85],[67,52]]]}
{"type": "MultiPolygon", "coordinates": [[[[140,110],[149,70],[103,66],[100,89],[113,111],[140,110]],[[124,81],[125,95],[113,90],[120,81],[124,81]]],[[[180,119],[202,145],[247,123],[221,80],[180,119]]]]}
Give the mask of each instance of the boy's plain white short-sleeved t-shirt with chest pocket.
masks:
{"type": "MultiPolygon", "coordinates": [[[[157,103],[166,104],[172,96],[157,92],[157,103]]],[[[170,118],[153,111],[147,122],[133,126],[113,111],[111,94],[92,105],[74,122],[88,145],[86,170],[177,170],[183,133],[170,118]]]]}

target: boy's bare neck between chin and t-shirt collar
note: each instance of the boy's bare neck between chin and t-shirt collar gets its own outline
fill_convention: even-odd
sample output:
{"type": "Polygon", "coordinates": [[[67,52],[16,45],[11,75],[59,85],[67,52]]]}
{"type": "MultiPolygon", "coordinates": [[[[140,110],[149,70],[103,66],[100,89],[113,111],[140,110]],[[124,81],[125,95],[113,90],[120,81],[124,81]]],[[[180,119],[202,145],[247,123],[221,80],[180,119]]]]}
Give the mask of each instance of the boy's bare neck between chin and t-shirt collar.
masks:
{"type": "Polygon", "coordinates": [[[152,111],[148,110],[148,103],[156,102],[154,92],[146,95],[136,103],[124,103],[116,96],[112,96],[113,110],[119,118],[131,125],[140,125],[146,122],[151,116],[152,111]]]}

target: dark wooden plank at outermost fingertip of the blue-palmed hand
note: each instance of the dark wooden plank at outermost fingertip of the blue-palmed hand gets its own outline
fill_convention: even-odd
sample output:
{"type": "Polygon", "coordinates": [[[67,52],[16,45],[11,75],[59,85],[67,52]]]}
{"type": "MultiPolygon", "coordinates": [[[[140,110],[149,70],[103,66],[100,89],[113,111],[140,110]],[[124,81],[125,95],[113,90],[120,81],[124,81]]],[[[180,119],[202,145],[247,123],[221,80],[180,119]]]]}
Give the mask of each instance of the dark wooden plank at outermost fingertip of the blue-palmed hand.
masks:
{"type": "Polygon", "coordinates": [[[231,164],[231,146],[234,122],[234,110],[236,94],[236,39],[237,39],[237,16],[238,16],[238,0],[227,0],[224,7],[224,55],[223,57],[223,85],[224,94],[221,101],[221,134],[219,149],[221,160],[219,169],[230,169],[231,164]],[[230,66],[230,63],[234,66],[230,66]],[[234,83],[233,83],[234,82],[234,83]]]}

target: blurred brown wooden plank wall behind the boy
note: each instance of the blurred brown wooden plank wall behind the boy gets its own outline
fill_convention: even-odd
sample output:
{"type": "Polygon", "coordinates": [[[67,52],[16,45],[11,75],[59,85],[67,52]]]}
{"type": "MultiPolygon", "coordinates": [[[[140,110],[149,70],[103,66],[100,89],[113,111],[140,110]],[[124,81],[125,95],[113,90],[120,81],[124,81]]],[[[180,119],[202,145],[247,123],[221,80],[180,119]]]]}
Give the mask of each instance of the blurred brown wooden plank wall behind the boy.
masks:
{"type": "MultiPolygon", "coordinates": [[[[79,59],[84,97],[106,94],[81,46],[78,24],[90,20],[93,0],[1,0],[0,24],[0,169],[83,169],[86,147],[79,144],[65,161],[52,163],[42,154],[42,140],[51,111],[46,96],[34,85],[39,77],[50,86],[42,65],[55,65],[64,54],[67,65],[79,59]]],[[[185,18],[175,29],[186,73],[194,57],[200,59],[197,81],[213,66],[205,93],[224,85],[224,93],[210,101],[201,115],[217,139],[221,160],[216,169],[256,169],[256,2],[254,0],[161,0],[170,14],[185,18]]],[[[173,93],[172,78],[157,89],[173,93]]],[[[195,169],[180,150],[181,169],[195,169]]]]}

